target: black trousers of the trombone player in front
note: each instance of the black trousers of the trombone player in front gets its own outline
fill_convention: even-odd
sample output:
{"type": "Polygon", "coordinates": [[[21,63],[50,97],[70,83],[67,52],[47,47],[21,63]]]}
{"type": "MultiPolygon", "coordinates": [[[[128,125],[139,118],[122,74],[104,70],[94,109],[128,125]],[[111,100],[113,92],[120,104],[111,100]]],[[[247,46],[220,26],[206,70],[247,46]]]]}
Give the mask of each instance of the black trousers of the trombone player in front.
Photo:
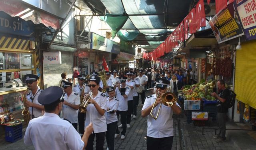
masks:
{"type": "Polygon", "coordinates": [[[171,150],[173,136],[166,138],[152,138],[147,136],[147,150],[171,150]]]}

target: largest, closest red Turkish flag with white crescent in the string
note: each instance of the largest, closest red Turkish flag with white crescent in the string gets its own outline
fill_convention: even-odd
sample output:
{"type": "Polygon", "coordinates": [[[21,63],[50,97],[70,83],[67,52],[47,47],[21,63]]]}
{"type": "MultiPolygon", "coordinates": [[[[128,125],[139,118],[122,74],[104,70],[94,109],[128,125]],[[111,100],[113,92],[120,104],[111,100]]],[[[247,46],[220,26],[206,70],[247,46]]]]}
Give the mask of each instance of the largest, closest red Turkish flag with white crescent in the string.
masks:
{"type": "Polygon", "coordinates": [[[201,26],[206,26],[204,0],[199,0],[196,4],[196,29],[200,29],[201,26]]]}

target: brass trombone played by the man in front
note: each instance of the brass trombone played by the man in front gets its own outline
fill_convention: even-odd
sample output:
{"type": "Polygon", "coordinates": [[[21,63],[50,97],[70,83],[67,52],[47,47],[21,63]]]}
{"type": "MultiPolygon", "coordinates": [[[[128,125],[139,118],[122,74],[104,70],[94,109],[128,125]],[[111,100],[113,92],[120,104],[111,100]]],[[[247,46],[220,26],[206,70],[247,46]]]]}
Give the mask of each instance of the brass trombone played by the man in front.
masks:
{"type": "Polygon", "coordinates": [[[152,114],[152,112],[153,112],[154,106],[156,104],[156,100],[157,100],[157,98],[159,96],[159,92],[157,93],[156,100],[155,100],[154,105],[153,105],[153,107],[152,107],[152,109],[150,111],[150,115],[155,120],[157,120],[157,118],[158,118],[158,115],[159,115],[160,109],[162,107],[162,104],[164,104],[165,106],[171,107],[173,104],[176,104],[176,102],[178,100],[178,97],[173,92],[171,92],[171,87],[170,86],[166,89],[166,91],[169,91],[169,92],[165,92],[162,95],[162,97],[161,97],[161,104],[160,104],[160,107],[158,108],[158,112],[157,112],[156,116],[154,116],[152,114]]]}

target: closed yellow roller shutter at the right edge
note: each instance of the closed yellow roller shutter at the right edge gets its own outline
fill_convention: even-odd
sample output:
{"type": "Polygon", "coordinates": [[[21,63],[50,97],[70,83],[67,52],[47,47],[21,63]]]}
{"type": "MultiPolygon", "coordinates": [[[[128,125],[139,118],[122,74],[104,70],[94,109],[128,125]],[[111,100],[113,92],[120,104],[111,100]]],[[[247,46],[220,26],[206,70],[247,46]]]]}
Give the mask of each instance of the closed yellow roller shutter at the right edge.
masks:
{"type": "Polygon", "coordinates": [[[236,99],[256,109],[256,40],[244,42],[236,51],[234,89],[236,99]]]}

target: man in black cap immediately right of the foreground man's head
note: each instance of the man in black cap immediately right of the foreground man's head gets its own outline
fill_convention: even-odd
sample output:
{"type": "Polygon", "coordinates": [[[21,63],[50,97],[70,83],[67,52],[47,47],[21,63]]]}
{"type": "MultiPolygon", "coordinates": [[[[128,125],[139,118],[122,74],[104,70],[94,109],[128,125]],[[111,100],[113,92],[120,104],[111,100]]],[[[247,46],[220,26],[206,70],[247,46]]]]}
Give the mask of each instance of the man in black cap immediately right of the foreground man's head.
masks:
{"type": "Polygon", "coordinates": [[[80,97],[72,90],[72,84],[68,81],[63,81],[65,97],[62,108],[62,117],[71,122],[75,129],[78,123],[78,109],[80,107],[80,97]]]}

